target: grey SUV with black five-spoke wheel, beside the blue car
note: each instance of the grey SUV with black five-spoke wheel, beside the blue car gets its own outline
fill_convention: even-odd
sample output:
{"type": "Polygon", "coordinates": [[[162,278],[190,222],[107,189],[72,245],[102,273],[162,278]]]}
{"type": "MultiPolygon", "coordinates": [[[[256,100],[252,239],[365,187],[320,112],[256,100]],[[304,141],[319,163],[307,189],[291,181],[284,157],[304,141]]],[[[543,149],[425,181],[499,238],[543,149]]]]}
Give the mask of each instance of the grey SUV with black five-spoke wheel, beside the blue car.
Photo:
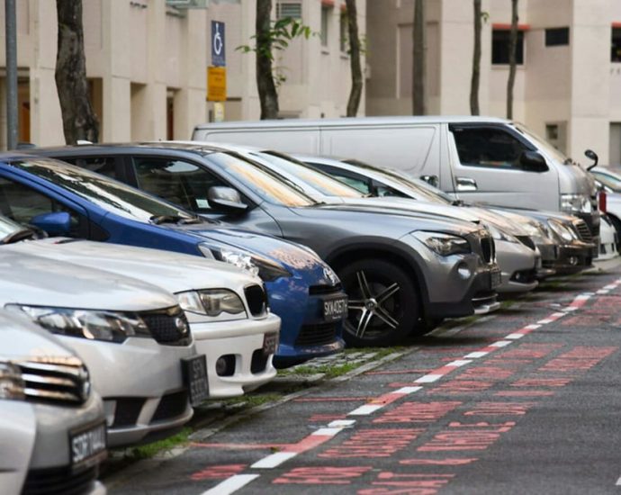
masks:
{"type": "MultiPolygon", "coordinates": [[[[335,268],[349,295],[345,337],[350,345],[392,344],[423,329],[419,320],[489,311],[487,304],[495,302],[493,239],[472,223],[407,211],[387,215],[373,206],[321,205],[256,163],[201,145],[161,142],[39,152],[82,165],[79,160],[85,158],[109,159],[116,176],[186,209],[311,247],[335,268]]],[[[9,167],[19,167],[20,175],[33,168],[9,167]]],[[[77,175],[73,168],[63,170],[77,175]]],[[[58,183],[56,177],[53,181],[58,183]]],[[[180,215],[188,216],[180,211],[176,218],[180,215]]]]}

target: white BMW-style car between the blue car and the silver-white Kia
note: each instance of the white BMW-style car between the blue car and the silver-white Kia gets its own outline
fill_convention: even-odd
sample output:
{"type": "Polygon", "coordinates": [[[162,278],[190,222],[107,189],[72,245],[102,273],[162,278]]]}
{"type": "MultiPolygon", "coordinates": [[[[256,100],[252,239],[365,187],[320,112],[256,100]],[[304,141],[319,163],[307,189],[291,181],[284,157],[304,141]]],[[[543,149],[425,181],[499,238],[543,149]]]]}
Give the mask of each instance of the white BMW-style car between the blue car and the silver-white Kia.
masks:
{"type": "MultiPolygon", "coordinates": [[[[52,213],[69,221],[67,212],[52,213]]],[[[261,280],[221,262],[145,247],[71,238],[39,238],[0,216],[6,252],[22,253],[130,276],[174,293],[199,354],[207,357],[209,397],[241,395],[276,375],[272,359],[280,319],[267,309],[261,280]]]]}

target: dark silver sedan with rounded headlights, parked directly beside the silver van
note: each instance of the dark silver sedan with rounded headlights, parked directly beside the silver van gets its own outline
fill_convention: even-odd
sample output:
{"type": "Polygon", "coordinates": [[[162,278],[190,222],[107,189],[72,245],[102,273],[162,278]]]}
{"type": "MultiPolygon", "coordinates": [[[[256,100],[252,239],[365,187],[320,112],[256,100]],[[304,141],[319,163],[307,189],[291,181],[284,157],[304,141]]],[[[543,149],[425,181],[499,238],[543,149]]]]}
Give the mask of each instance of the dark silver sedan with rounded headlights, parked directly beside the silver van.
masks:
{"type": "MultiPolygon", "coordinates": [[[[467,209],[466,211],[473,211],[482,218],[489,218],[492,214],[494,217],[490,220],[496,221],[498,215],[502,215],[514,226],[526,230],[527,236],[516,235],[521,242],[527,246],[534,244],[539,250],[543,268],[538,274],[540,278],[580,271],[591,265],[592,257],[597,251],[597,247],[590,243],[591,234],[586,222],[572,215],[554,211],[540,213],[536,210],[518,209],[510,212],[509,209],[483,208],[477,204],[455,200],[436,187],[398,170],[383,169],[353,159],[337,160],[308,156],[298,158],[346,184],[351,184],[361,192],[455,204],[467,209]],[[578,235],[570,234],[574,227],[578,235]]],[[[498,245],[500,243],[497,240],[498,245]]],[[[500,249],[497,248],[497,253],[499,252],[500,249]]],[[[500,266],[502,266],[501,260],[500,266]]]]}

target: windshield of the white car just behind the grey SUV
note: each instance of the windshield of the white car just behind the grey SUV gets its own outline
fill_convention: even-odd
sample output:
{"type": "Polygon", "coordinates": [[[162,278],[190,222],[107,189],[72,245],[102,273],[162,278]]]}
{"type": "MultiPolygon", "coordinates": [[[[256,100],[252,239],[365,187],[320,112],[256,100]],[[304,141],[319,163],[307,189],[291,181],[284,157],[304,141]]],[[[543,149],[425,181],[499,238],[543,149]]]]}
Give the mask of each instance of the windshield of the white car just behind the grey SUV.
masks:
{"type": "Polygon", "coordinates": [[[252,154],[268,160],[278,169],[294,175],[302,182],[311,185],[311,187],[314,187],[320,193],[327,196],[338,196],[341,198],[365,197],[365,194],[360,193],[353,187],[343,184],[329,175],[315,170],[311,166],[304,165],[293,157],[286,157],[276,151],[256,151],[252,154]]]}

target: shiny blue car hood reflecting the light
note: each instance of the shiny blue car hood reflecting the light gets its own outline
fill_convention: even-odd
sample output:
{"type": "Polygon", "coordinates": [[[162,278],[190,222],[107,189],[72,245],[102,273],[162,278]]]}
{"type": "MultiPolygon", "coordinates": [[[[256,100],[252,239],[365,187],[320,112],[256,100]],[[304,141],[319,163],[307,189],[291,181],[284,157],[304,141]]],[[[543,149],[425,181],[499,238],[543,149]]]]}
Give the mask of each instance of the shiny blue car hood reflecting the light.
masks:
{"type": "Polygon", "coordinates": [[[319,255],[308,247],[302,247],[282,238],[234,227],[220,226],[204,229],[201,224],[179,225],[171,228],[204,238],[207,243],[211,240],[266,257],[284,266],[293,276],[305,279],[309,284],[335,284],[332,271],[319,255]]]}

